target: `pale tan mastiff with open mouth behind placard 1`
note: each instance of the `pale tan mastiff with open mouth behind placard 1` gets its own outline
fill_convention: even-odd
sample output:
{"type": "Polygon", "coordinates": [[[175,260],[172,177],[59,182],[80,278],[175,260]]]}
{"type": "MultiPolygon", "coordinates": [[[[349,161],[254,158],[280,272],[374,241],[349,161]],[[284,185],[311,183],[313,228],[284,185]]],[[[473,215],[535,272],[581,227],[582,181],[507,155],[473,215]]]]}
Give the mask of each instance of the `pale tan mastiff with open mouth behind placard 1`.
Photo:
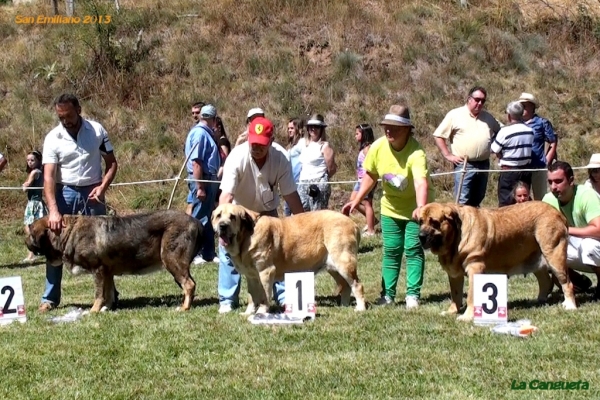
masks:
{"type": "Polygon", "coordinates": [[[265,313],[273,283],[286,272],[326,268],[341,286],[341,303],[356,298],[356,311],[365,310],[363,285],[356,272],[360,231],[345,215],[321,210],[287,218],[261,216],[242,206],[222,204],[212,214],[219,244],[235,268],[248,279],[248,308],[244,314],[265,313]]]}

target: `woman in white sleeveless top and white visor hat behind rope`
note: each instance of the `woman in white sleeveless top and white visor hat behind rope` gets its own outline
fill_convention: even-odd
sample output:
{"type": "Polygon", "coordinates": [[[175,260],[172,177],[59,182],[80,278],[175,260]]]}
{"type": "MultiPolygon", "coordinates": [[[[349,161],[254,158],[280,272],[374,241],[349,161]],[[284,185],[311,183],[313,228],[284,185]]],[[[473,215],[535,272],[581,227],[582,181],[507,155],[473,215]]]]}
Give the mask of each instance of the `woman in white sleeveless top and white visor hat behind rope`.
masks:
{"type": "Polygon", "coordinates": [[[306,122],[307,136],[296,147],[302,165],[298,183],[298,194],[304,211],[327,209],[331,187],[329,179],[337,171],[333,149],[325,135],[325,119],[314,114],[306,122]]]}

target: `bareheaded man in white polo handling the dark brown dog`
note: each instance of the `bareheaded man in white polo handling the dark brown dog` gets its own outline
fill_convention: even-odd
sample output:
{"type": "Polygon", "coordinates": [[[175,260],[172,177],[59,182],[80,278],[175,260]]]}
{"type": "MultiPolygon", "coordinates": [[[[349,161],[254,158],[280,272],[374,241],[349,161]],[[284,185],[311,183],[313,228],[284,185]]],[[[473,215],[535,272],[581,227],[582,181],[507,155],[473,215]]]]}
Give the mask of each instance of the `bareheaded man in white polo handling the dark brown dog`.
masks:
{"type": "MultiPolygon", "coordinates": [[[[117,160],[106,130],[81,117],[79,100],[62,94],[54,101],[60,123],[44,140],[44,195],[48,223],[53,231],[63,227],[63,214],[105,215],[104,194],[117,173],[117,160]],[[106,164],[102,177],[102,159],[106,164]]],[[[46,288],[40,312],[60,303],[62,266],[46,264],[46,288]]]]}

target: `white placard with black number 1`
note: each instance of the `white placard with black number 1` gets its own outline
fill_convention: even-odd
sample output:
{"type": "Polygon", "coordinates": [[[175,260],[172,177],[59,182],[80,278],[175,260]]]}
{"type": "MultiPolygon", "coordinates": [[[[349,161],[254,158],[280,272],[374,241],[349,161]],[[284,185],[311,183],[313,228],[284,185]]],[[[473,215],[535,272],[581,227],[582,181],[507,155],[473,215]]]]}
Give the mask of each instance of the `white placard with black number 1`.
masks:
{"type": "Polygon", "coordinates": [[[315,318],[315,273],[285,274],[285,313],[294,317],[315,318]]]}

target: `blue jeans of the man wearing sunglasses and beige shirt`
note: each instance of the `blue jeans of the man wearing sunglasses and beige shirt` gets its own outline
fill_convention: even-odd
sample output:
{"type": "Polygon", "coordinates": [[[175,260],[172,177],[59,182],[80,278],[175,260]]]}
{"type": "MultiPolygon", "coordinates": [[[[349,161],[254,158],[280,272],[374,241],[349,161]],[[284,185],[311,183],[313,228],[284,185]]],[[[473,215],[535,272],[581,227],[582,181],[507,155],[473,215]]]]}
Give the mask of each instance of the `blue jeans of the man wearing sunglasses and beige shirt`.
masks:
{"type": "MultiPolygon", "coordinates": [[[[462,164],[454,167],[454,198],[458,191],[460,184],[460,177],[462,176],[462,164]]],[[[483,199],[485,198],[485,191],[487,189],[488,173],[477,172],[477,170],[490,169],[490,161],[469,161],[467,162],[467,172],[465,173],[465,179],[460,191],[460,197],[458,204],[464,204],[473,207],[479,207],[483,199]]]]}

